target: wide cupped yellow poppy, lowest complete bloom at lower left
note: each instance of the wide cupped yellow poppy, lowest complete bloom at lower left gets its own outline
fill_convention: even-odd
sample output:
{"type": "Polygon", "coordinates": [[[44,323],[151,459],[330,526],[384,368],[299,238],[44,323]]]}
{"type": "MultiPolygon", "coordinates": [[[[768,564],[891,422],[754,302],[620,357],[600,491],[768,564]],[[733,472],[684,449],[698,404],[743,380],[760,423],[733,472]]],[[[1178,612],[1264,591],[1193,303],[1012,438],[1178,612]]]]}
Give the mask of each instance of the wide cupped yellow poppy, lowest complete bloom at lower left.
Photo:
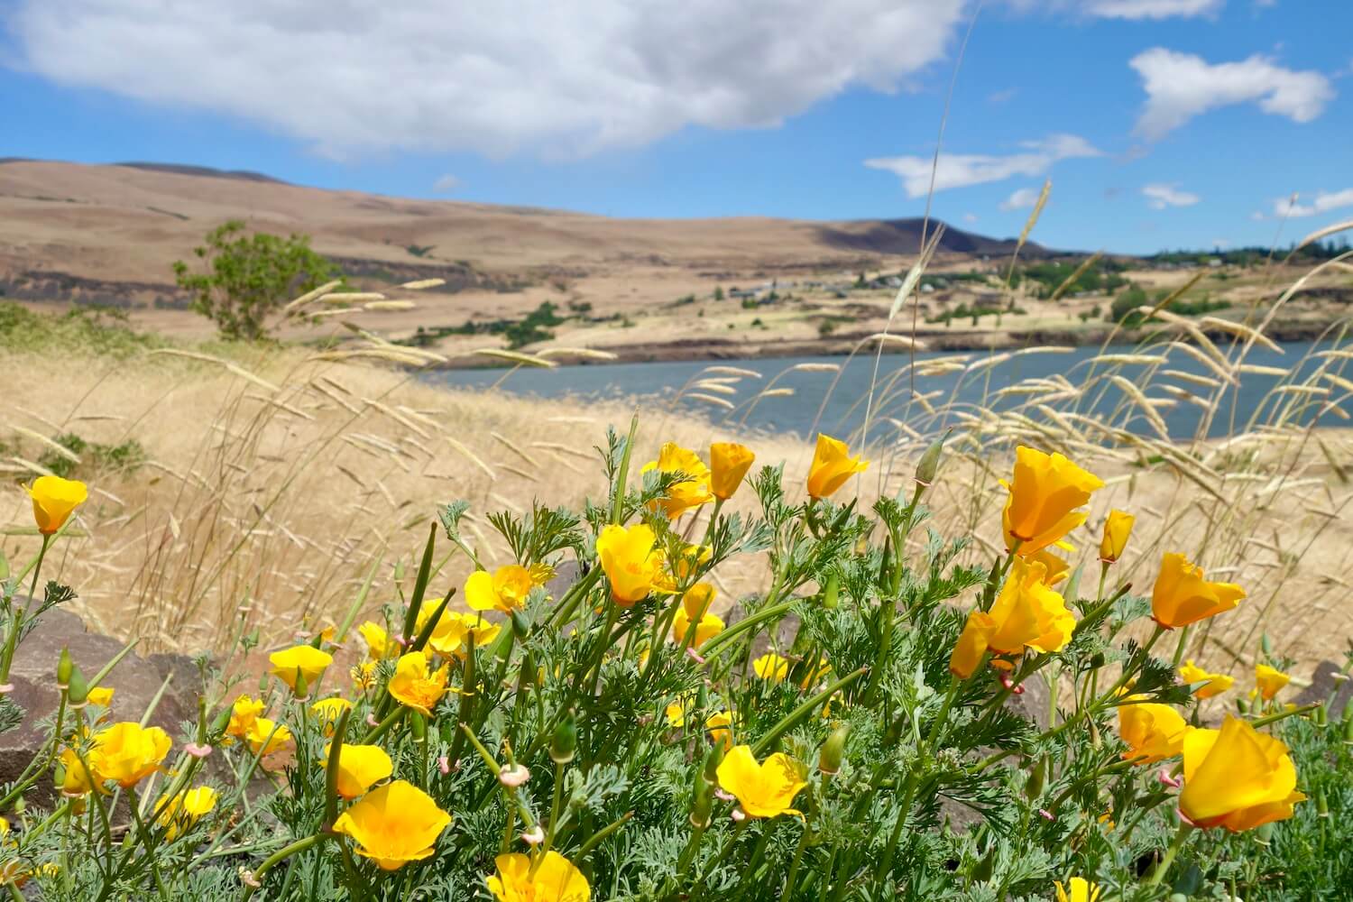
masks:
{"type": "Polygon", "coordinates": [[[383,871],[395,871],[430,857],[449,824],[451,815],[430,795],[413,783],[395,780],[340,814],[333,830],[352,837],[357,855],[372,859],[383,871]]]}

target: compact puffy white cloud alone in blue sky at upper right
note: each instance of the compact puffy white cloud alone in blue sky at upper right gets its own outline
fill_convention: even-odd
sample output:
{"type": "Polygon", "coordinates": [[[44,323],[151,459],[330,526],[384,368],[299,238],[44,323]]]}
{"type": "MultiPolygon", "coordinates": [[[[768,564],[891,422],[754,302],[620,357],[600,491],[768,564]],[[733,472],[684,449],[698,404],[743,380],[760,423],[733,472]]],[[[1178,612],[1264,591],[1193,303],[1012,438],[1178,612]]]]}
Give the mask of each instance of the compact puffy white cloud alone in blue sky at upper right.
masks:
{"type": "Polygon", "coordinates": [[[1160,141],[1210,110],[1239,103],[1257,103],[1264,112],[1311,122],[1334,99],[1330,80],[1319,72],[1293,72],[1260,55],[1212,65],[1193,54],[1151,47],[1128,65],[1146,89],[1137,134],[1147,141],[1160,141]]]}

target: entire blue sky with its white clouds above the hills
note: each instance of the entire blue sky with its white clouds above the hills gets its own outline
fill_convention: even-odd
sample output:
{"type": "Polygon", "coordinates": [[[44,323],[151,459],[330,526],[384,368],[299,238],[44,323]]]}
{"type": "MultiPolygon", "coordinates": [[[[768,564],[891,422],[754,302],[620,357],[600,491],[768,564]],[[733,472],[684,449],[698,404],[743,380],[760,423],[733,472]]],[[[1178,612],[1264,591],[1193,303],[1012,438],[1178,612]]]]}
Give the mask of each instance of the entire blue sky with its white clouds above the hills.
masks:
{"type": "MultiPolygon", "coordinates": [[[[0,156],[617,216],[916,216],[974,14],[0,0],[0,156]]],[[[934,215],[1016,234],[1051,179],[1035,237],[1059,247],[1285,242],[1353,218],[1349,34],[1335,0],[986,0],[934,215]]]]}

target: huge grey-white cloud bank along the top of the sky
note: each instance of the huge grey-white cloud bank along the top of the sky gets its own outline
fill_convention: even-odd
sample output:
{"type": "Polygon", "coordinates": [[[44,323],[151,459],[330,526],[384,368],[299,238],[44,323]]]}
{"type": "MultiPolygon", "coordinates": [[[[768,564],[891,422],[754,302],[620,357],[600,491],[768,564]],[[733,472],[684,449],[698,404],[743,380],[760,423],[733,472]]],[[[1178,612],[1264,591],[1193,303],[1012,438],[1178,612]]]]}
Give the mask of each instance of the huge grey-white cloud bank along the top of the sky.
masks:
{"type": "Polygon", "coordinates": [[[965,0],[11,0],[20,65],[321,153],[576,156],[771,127],[944,57],[965,0]]]}

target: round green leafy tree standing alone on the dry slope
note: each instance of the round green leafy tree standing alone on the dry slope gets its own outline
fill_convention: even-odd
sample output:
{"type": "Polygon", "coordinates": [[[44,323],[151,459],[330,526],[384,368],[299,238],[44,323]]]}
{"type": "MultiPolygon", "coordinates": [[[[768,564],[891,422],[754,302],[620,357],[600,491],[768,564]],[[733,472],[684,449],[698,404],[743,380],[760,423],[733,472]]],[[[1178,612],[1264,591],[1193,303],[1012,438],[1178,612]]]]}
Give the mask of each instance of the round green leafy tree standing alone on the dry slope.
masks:
{"type": "Polygon", "coordinates": [[[310,249],[310,237],[285,238],[245,233],[239,219],[207,233],[192,253],[206,272],[175,261],[179,287],[192,296],[192,310],[216,323],[222,338],[257,341],[276,323],[268,319],[296,295],[340,276],[337,266],[310,249]]]}

